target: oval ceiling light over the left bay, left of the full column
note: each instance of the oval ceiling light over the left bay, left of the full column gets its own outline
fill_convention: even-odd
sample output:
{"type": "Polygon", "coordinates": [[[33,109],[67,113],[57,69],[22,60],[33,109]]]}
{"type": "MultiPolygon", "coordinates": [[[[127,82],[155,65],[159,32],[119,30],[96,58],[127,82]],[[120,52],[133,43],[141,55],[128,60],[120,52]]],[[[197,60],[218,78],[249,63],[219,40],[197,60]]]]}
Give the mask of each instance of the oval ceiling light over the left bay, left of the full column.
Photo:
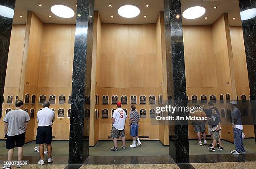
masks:
{"type": "Polygon", "coordinates": [[[53,5],[51,12],[61,18],[72,18],[74,16],[74,10],[65,5],[53,5]]]}

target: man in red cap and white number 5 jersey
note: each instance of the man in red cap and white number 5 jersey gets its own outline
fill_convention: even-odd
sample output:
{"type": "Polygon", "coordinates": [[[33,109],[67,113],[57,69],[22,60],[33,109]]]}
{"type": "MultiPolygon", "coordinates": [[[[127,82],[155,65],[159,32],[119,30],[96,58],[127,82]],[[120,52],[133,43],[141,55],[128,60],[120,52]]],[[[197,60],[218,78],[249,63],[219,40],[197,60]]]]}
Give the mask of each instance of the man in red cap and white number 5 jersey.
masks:
{"type": "Polygon", "coordinates": [[[125,148],[125,119],[127,115],[123,108],[121,108],[121,102],[116,104],[118,107],[115,109],[113,116],[112,116],[112,130],[111,130],[111,138],[114,140],[114,146],[110,149],[111,151],[118,151],[117,147],[117,139],[119,136],[122,137],[123,146],[122,149],[125,148]]]}

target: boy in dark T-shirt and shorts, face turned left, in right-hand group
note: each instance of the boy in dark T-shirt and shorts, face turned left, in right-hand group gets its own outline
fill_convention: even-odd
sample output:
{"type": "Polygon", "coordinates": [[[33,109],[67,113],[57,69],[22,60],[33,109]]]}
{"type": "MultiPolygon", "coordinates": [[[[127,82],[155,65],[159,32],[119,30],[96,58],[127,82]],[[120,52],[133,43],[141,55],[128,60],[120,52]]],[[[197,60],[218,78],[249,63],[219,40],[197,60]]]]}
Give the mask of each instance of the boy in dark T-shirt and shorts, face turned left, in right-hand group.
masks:
{"type": "Polygon", "coordinates": [[[208,147],[209,150],[215,151],[215,146],[218,143],[220,144],[220,147],[217,150],[223,150],[223,146],[220,142],[220,115],[217,114],[217,108],[212,108],[212,116],[209,119],[212,126],[212,139],[213,139],[213,145],[211,147],[208,147]]]}

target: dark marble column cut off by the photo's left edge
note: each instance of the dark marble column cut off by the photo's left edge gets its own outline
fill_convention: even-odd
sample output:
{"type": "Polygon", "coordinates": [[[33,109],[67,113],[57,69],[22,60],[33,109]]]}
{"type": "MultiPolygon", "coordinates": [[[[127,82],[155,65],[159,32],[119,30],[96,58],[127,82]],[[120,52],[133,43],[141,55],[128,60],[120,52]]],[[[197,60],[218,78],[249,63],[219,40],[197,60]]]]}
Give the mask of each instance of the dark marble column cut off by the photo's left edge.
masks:
{"type": "MultiPolygon", "coordinates": [[[[14,10],[15,0],[0,0],[0,5],[14,10]]],[[[10,35],[13,26],[13,18],[0,15],[0,110],[3,103],[3,92],[5,88],[5,74],[9,53],[10,35]]]]}

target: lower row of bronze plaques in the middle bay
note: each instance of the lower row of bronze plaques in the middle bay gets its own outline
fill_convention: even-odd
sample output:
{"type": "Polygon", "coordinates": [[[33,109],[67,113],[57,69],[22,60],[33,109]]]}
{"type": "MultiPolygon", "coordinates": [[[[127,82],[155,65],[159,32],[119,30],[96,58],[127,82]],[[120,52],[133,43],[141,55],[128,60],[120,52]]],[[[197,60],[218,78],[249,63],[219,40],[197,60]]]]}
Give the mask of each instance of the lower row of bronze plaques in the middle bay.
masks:
{"type": "MultiPolygon", "coordinates": [[[[109,117],[109,113],[108,113],[108,109],[104,108],[101,111],[101,118],[102,119],[108,119],[108,118],[112,118],[113,114],[114,114],[115,109],[111,110],[111,117],[109,117]]],[[[127,110],[124,109],[125,113],[127,114],[127,110]]],[[[146,109],[142,108],[140,109],[140,115],[141,118],[146,118],[147,117],[147,111],[146,109]]],[[[156,117],[156,110],[155,109],[150,109],[149,110],[149,118],[155,118],[156,117]]],[[[99,109],[95,109],[95,120],[99,118],[99,109]]]]}

